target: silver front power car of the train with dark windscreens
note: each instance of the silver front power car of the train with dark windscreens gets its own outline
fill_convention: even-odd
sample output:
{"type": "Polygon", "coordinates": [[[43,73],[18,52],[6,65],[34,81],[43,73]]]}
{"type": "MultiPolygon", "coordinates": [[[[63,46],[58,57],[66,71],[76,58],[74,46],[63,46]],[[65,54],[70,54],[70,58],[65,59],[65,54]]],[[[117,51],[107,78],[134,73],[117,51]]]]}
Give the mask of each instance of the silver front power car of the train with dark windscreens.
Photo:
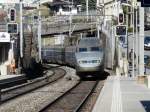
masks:
{"type": "Polygon", "coordinates": [[[104,48],[98,38],[83,38],[75,53],[76,71],[95,72],[104,70],[104,48]]]}

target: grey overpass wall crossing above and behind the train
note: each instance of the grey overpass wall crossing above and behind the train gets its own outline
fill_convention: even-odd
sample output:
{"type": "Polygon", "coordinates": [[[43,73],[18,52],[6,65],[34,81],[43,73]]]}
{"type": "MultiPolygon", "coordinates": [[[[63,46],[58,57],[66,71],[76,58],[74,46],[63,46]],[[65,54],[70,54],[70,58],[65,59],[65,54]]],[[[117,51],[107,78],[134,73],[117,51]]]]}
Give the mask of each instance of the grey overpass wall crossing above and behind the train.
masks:
{"type": "MultiPolygon", "coordinates": [[[[96,12],[91,12],[91,14],[96,15],[96,12]]],[[[93,15],[89,13],[87,19],[84,12],[77,15],[61,15],[44,19],[42,20],[42,35],[96,28],[97,16],[93,15]]]]}

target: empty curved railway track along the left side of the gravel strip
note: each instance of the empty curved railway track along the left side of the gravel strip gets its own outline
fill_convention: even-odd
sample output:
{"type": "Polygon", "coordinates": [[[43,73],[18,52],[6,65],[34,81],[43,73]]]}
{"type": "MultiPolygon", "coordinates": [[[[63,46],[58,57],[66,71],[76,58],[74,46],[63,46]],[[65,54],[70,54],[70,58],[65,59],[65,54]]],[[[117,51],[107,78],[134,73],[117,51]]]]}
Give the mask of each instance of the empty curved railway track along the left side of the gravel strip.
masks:
{"type": "Polygon", "coordinates": [[[13,99],[17,96],[34,91],[50,83],[54,83],[59,79],[61,79],[62,77],[64,77],[66,74],[65,70],[61,68],[53,68],[52,71],[53,71],[53,75],[50,76],[46,75],[44,77],[37,78],[35,80],[29,81],[27,83],[18,86],[2,89],[0,94],[1,103],[13,99]]]}

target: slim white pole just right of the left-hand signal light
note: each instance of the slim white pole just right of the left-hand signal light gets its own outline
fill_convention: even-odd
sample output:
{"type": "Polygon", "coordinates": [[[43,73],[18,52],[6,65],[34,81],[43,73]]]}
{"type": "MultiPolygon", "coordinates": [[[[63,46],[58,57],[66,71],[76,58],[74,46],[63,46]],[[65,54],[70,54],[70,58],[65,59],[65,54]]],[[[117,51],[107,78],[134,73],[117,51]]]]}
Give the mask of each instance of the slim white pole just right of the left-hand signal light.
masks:
{"type": "Polygon", "coordinates": [[[20,0],[20,57],[23,58],[22,0],[20,0]]]}

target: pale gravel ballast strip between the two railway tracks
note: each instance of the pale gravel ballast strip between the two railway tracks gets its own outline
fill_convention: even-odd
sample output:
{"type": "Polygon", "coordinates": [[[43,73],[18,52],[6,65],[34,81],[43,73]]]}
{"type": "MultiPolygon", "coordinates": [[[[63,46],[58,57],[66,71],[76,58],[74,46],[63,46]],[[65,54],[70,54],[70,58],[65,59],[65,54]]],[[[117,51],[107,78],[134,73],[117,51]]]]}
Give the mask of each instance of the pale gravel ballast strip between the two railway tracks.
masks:
{"type": "MultiPolygon", "coordinates": [[[[69,67],[62,68],[67,72],[66,76],[75,72],[74,69],[69,67]]],[[[74,74],[73,79],[78,79],[78,77],[74,74]]],[[[76,83],[78,83],[77,80],[68,81],[66,78],[63,78],[57,83],[47,85],[1,104],[0,112],[38,112],[41,108],[55,100],[76,83]]]]}

